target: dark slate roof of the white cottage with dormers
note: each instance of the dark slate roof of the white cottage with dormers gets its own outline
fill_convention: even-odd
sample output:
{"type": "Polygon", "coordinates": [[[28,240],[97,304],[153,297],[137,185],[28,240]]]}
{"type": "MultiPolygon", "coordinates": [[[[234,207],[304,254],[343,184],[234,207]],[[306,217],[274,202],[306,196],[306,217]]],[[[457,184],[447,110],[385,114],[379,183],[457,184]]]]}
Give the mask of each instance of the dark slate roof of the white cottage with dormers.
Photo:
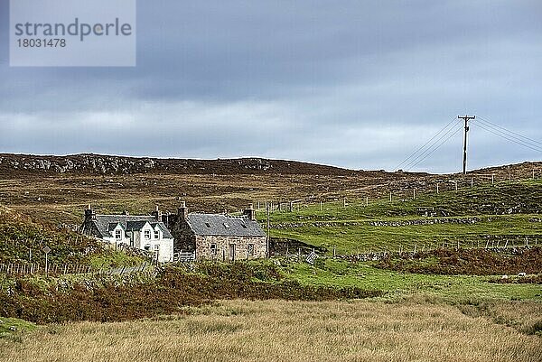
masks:
{"type": "Polygon", "coordinates": [[[164,233],[164,238],[173,239],[170,231],[165,227],[162,221],[156,221],[154,216],[137,216],[137,215],[96,215],[96,219],[92,220],[98,229],[99,237],[113,237],[111,231],[120,224],[126,231],[141,230],[148,222],[151,227],[160,227],[164,233]]]}

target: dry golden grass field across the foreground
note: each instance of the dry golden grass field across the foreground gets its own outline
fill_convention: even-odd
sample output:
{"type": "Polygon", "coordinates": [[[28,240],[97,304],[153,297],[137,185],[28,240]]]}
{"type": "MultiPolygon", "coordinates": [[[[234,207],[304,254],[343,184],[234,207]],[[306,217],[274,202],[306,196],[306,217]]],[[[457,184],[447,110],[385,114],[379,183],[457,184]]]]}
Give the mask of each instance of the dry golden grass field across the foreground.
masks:
{"type": "Polygon", "coordinates": [[[230,301],[188,315],[51,325],[3,361],[541,361],[542,339],[416,302],[230,301]]]}

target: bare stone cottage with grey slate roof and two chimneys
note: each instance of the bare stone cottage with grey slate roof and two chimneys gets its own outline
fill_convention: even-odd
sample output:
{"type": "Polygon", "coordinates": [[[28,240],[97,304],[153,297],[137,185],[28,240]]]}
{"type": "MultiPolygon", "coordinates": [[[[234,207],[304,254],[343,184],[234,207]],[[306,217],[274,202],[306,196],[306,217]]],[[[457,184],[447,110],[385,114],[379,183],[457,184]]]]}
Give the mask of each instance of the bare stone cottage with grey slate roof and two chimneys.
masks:
{"type": "Polygon", "coordinates": [[[197,260],[242,260],[266,257],[266,233],[252,205],[243,216],[188,212],[182,202],[177,214],[163,216],[175,238],[175,252],[195,252],[197,260]]]}

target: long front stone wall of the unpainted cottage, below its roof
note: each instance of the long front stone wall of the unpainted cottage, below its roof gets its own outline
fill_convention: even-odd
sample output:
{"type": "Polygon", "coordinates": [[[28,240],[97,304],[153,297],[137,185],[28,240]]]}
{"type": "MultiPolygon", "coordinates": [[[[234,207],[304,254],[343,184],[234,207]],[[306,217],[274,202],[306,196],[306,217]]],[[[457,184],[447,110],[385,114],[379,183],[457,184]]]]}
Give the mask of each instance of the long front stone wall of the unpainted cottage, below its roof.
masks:
{"type": "Polygon", "coordinates": [[[195,236],[196,258],[246,260],[266,257],[266,237],[195,236]]]}

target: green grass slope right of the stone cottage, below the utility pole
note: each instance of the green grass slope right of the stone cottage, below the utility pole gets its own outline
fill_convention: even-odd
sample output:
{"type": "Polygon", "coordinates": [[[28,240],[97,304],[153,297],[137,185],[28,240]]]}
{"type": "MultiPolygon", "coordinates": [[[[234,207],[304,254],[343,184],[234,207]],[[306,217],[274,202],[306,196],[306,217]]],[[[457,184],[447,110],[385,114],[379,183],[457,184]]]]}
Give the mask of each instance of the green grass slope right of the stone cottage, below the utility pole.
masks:
{"type": "MultiPolygon", "coordinates": [[[[537,245],[542,243],[542,181],[503,182],[436,194],[416,200],[347,200],[304,204],[270,214],[272,237],[293,238],[313,246],[336,247],[341,254],[435,248],[537,245]],[[437,210],[439,216],[426,217],[437,210]],[[444,215],[446,216],[442,216],[444,215]],[[428,222],[453,218],[462,222],[375,226],[374,222],[428,222]],[[470,221],[470,222],[469,222],[470,221]]],[[[266,222],[265,212],[258,218],[266,222]]],[[[444,220],[445,221],[445,220],[444,220]]]]}

